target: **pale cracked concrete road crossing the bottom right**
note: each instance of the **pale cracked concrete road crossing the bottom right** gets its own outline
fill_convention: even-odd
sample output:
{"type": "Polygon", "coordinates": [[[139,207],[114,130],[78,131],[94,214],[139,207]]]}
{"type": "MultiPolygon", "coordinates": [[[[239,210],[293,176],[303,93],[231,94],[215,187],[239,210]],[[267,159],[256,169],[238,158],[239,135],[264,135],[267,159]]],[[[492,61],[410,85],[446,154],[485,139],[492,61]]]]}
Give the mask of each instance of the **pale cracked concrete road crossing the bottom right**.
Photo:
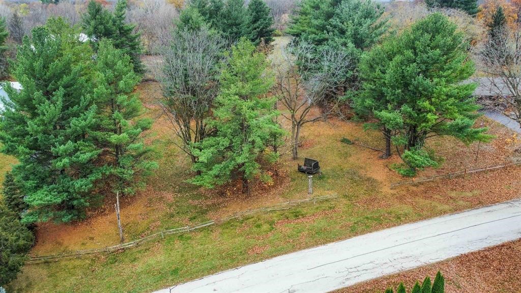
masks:
{"type": "Polygon", "coordinates": [[[157,292],[328,292],[519,238],[521,200],[513,200],[281,255],[157,292]]]}

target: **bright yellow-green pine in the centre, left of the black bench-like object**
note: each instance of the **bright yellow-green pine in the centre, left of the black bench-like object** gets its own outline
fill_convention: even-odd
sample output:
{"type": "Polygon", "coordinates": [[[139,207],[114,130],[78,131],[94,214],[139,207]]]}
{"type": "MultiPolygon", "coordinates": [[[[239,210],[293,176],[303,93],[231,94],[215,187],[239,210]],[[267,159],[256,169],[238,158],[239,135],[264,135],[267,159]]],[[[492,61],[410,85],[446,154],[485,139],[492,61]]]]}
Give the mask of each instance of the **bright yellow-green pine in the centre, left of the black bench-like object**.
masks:
{"type": "Polygon", "coordinates": [[[258,163],[273,133],[282,132],[274,122],[275,99],[265,97],[274,83],[267,74],[268,61],[245,39],[232,47],[228,65],[220,76],[221,92],[215,99],[214,117],[208,121],[215,136],[197,143],[194,169],[201,172],[191,180],[211,188],[233,178],[243,182],[243,192],[255,176],[267,179],[258,163]]]}

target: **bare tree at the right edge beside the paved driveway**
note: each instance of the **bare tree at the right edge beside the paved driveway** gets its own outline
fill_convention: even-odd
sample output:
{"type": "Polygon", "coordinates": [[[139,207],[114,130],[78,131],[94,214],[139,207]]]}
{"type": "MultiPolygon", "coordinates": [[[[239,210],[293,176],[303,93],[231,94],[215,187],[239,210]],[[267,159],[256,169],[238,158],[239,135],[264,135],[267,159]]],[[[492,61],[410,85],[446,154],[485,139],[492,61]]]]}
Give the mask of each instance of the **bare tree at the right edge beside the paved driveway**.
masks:
{"type": "Polygon", "coordinates": [[[480,47],[481,70],[494,96],[492,106],[521,125],[521,30],[506,27],[480,47]]]}

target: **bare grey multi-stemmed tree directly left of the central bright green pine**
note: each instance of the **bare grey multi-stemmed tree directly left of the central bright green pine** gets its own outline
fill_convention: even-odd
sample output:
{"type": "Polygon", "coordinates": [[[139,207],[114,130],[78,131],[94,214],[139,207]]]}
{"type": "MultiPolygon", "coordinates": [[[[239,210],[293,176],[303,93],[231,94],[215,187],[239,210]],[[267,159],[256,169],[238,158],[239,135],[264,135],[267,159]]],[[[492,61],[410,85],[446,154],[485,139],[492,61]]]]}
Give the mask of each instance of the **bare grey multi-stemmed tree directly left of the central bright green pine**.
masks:
{"type": "Polygon", "coordinates": [[[164,98],[160,101],[172,130],[193,163],[191,146],[201,141],[209,129],[204,121],[218,93],[218,67],[225,42],[206,29],[175,32],[162,49],[163,64],[158,72],[164,98]]]}

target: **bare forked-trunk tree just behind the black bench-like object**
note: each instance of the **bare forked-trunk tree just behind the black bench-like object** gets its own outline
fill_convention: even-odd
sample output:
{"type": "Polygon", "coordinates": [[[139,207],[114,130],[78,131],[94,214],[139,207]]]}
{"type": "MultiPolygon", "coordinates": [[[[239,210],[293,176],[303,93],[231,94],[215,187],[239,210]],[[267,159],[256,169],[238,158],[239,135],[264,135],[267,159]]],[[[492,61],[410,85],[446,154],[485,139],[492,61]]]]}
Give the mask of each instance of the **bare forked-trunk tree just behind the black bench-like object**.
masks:
{"type": "Polygon", "coordinates": [[[313,46],[290,43],[282,50],[283,61],[274,65],[277,74],[274,94],[287,109],[281,115],[291,121],[293,160],[298,157],[302,126],[325,120],[336,111],[337,105],[329,105],[319,114],[310,115],[314,106],[326,101],[327,92],[342,86],[351,65],[350,58],[343,52],[324,49],[318,59],[315,56],[313,46]]]}

